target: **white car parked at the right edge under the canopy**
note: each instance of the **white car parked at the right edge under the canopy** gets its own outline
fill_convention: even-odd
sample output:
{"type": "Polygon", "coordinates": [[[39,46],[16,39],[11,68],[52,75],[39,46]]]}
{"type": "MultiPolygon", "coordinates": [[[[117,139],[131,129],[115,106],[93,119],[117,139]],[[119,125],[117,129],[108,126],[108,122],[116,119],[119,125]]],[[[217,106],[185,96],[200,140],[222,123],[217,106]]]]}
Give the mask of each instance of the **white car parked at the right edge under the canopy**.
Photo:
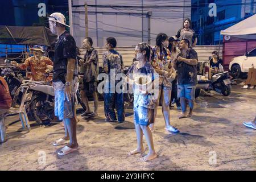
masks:
{"type": "Polygon", "coordinates": [[[256,68],[256,48],[246,52],[243,56],[234,57],[229,63],[229,70],[234,78],[238,78],[248,73],[253,65],[256,68]]]}

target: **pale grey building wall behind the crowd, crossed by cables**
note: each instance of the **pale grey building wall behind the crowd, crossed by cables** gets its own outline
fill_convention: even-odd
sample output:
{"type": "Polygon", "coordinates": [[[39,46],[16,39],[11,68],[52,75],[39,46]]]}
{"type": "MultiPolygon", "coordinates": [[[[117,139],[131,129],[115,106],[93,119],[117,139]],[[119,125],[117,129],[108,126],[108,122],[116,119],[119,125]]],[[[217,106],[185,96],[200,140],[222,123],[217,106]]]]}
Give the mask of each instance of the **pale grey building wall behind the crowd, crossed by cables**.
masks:
{"type": "MultiPolygon", "coordinates": [[[[73,35],[82,46],[85,37],[85,1],[73,0],[73,35]]],[[[102,47],[106,38],[113,36],[117,46],[135,46],[139,42],[155,44],[160,32],[176,35],[185,18],[191,18],[191,0],[89,0],[88,36],[94,46],[102,47]],[[101,5],[108,5],[101,7],[101,5]],[[132,7],[130,7],[132,6],[132,7]]]]}

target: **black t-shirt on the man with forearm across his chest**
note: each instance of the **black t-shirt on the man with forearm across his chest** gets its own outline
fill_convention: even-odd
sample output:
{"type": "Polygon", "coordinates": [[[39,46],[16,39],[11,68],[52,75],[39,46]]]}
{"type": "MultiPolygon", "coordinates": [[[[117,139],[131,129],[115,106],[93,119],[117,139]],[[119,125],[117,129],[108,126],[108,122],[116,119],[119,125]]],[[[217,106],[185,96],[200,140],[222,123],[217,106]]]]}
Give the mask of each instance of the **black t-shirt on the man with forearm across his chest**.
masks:
{"type": "MultiPolygon", "coordinates": [[[[183,55],[180,53],[177,57],[184,57],[186,59],[196,59],[197,53],[194,49],[189,48],[188,51],[183,55]]],[[[197,70],[196,65],[189,65],[183,61],[177,61],[177,82],[182,85],[196,85],[197,82],[197,70]]]]}

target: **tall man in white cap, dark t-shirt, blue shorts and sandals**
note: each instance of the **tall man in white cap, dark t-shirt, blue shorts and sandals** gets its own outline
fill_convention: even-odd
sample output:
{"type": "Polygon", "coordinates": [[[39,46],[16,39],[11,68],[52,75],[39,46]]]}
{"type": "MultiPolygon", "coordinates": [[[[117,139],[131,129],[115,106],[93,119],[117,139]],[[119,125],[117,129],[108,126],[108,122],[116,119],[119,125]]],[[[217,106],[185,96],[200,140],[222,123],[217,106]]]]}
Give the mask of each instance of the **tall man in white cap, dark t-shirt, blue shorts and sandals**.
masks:
{"type": "Polygon", "coordinates": [[[55,115],[63,119],[65,137],[56,140],[53,145],[68,143],[57,154],[67,155],[79,147],[76,139],[75,94],[77,88],[77,60],[75,39],[65,30],[69,27],[65,16],[53,13],[49,16],[52,34],[58,36],[55,43],[53,61],[53,87],[55,89],[55,115]]]}

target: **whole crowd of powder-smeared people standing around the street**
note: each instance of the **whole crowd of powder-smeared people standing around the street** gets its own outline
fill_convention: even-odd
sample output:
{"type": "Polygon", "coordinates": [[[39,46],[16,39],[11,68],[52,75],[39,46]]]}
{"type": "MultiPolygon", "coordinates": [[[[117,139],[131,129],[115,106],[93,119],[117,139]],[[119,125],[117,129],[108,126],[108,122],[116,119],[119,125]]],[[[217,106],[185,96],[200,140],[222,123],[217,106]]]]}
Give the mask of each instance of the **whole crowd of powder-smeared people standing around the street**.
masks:
{"type": "MultiPolygon", "coordinates": [[[[79,148],[76,138],[77,119],[75,106],[79,66],[84,70],[81,96],[86,110],[82,117],[96,118],[98,116],[98,52],[93,47],[92,38],[87,37],[83,41],[83,46],[86,49],[84,59],[77,61],[76,42],[72,35],[65,30],[68,25],[63,14],[51,14],[49,16],[49,27],[52,34],[58,36],[55,43],[53,62],[42,56],[44,53],[42,47],[35,46],[31,49],[34,56],[29,57],[23,64],[18,64],[15,61],[11,64],[20,69],[30,67],[32,79],[35,81],[47,81],[47,73],[53,71],[55,115],[60,120],[63,120],[65,129],[65,136],[53,142],[53,145],[67,144],[57,153],[58,155],[67,155],[79,148]],[[89,107],[87,97],[89,93],[93,95],[93,111],[89,107]]],[[[162,104],[162,114],[167,131],[172,133],[179,132],[170,123],[171,101],[175,100],[177,108],[182,111],[179,118],[192,117],[197,83],[196,65],[198,59],[197,52],[193,49],[196,42],[195,31],[191,28],[191,20],[186,19],[183,28],[177,32],[176,36],[169,37],[160,33],[156,36],[155,46],[139,43],[135,47],[136,57],[127,72],[125,82],[133,86],[137,148],[130,151],[128,155],[144,151],[142,141],[144,135],[149,151],[141,160],[147,161],[156,158],[152,132],[154,132],[159,103],[162,104]],[[140,80],[143,77],[147,77],[146,84],[143,84],[140,80]],[[143,85],[146,85],[146,87],[143,85]],[[174,92],[175,90],[177,92],[174,92]],[[187,104],[189,106],[188,113],[187,104]]],[[[119,92],[116,88],[119,84],[118,74],[121,74],[123,70],[123,59],[122,55],[115,50],[116,46],[117,40],[115,38],[109,37],[106,39],[105,47],[107,51],[102,56],[102,67],[107,75],[106,84],[104,85],[104,111],[106,122],[121,123],[125,121],[123,92],[119,92]]],[[[213,71],[217,72],[220,61],[217,53],[213,52],[210,59],[213,71]]],[[[3,86],[6,85],[3,84],[3,86]]],[[[10,97],[7,94],[5,96],[7,106],[0,109],[0,114],[7,107],[10,107],[10,97]]],[[[2,127],[2,125],[0,126],[2,127]]]]}

